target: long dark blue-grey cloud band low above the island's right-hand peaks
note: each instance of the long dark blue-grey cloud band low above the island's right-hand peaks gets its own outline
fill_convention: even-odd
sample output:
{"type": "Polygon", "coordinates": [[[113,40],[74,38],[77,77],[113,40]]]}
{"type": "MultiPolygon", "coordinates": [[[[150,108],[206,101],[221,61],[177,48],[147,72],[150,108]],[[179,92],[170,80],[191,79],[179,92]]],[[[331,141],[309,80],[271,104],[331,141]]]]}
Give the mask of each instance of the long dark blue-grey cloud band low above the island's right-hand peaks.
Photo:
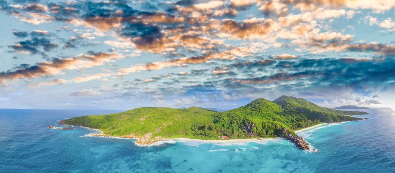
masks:
{"type": "MultiPolygon", "coordinates": [[[[216,79],[209,69],[193,70],[182,75],[185,79],[174,79],[162,82],[165,86],[181,86],[179,92],[174,94],[218,94],[222,91],[237,93],[270,93],[271,90],[281,93],[287,92],[315,92],[319,88],[328,90],[351,88],[354,92],[369,95],[372,91],[388,86],[395,86],[395,61],[393,56],[379,56],[376,59],[348,59],[348,58],[300,58],[292,61],[240,61],[231,65],[216,67],[214,70],[223,70],[224,67],[235,69],[239,75],[216,79]],[[261,63],[257,63],[261,62],[261,63]],[[262,63],[270,62],[270,63],[262,63]],[[270,65],[268,65],[270,64],[270,65]],[[287,64],[287,71],[284,71],[287,64]],[[263,66],[262,66],[263,65],[263,66]],[[243,68],[247,67],[247,68],[243,68]],[[263,72],[276,72],[262,75],[256,73],[257,69],[263,72]],[[195,75],[193,75],[195,74],[195,75]],[[205,81],[199,81],[203,75],[205,81]],[[276,86],[276,87],[273,87],[276,86]]],[[[229,70],[229,69],[228,69],[229,70]]],[[[161,85],[160,83],[158,85],[161,85]]],[[[166,92],[160,92],[166,95],[166,92]]],[[[372,97],[376,98],[376,97],[372,97]]],[[[366,104],[378,104],[375,100],[368,100],[366,104]]]]}

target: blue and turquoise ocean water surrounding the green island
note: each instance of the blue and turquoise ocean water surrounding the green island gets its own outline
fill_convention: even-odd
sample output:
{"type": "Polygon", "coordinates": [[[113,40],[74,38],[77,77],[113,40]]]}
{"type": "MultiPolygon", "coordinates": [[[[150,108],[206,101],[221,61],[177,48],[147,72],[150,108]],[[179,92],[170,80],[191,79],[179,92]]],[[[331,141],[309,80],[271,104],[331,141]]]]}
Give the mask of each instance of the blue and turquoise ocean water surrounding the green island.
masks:
{"type": "Polygon", "coordinates": [[[166,143],[81,137],[94,130],[48,129],[58,120],[114,110],[0,110],[1,173],[395,173],[395,113],[298,132],[320,153],[282,139],[260,143],[166,143]]]}

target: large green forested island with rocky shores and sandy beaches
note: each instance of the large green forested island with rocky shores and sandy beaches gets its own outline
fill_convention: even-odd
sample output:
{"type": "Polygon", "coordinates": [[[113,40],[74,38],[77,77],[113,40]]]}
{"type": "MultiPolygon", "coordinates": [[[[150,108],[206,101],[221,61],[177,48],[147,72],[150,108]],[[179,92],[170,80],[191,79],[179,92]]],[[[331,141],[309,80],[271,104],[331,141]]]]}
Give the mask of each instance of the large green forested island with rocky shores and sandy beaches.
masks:
{"type": "Polygon", "coordinates": [[[349,116],[363,114],[368,113],[324,108],[306,99],[283,95],[274,101],[256,99],[224,112],[199,107],[141,107],[116,114],[75,117],[61,120],[59,124],[102,132],[93,135],[135,138],[138,145],[172,138],[229,140],[283,137],[302,150],[310,150],[309,143],[295,130],[321,123],[363,120],[349,116]]]}

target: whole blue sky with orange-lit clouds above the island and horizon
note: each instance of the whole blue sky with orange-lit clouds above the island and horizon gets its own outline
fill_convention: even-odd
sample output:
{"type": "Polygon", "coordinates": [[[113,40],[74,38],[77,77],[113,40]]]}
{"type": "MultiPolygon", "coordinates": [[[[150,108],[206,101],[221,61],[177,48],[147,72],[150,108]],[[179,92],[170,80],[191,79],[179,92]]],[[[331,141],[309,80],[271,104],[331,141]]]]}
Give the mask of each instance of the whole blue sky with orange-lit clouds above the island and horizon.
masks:
{"type": "Polygon", "coordinates": [[[0,108],[395,108],[395,0],[0,0],[0,108]]]}

